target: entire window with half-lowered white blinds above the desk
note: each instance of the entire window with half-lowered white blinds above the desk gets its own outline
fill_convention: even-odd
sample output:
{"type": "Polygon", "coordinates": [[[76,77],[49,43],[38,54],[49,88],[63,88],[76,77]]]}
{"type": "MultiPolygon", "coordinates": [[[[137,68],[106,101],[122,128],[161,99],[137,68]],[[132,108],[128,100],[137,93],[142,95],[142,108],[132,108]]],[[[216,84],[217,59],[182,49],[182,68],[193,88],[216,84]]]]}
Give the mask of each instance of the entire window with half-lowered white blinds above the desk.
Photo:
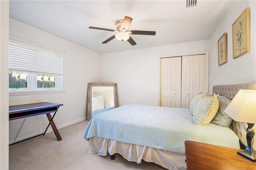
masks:
{"type": "Polygon", "coordinates": [[[50,47],[10,36],[9,91],[63,90],[63,56],[50,47]]]}

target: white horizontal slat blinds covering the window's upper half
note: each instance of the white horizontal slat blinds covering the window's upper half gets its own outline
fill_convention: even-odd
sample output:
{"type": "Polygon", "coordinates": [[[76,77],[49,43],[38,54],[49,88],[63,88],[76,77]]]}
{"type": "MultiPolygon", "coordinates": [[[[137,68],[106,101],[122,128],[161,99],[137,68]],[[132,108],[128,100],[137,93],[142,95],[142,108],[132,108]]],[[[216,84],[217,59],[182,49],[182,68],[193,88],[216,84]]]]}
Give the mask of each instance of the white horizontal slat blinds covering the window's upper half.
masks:
{"type": "Polygon", "coordinates": [[[62,56],[60,52],[21,41],[9,42],[9,70],[62,75],[62,56]]]}

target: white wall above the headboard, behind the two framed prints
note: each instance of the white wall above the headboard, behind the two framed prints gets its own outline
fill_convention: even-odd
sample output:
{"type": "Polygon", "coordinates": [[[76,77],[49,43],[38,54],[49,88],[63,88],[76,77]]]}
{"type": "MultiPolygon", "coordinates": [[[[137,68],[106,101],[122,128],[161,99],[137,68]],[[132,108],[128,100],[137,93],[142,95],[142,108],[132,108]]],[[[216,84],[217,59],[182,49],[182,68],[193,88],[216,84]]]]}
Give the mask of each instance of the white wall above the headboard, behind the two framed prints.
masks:
{"type": "Polygon", "coordinates": [[[255,1],[235,1],[226,17],[218,25],[212,35],[210,50],[210,83],[209,90],[218,84],[240,84],[256,82],[256,6],[255,1]],[[232,24],[240,14],[250,8],[250,47],[251,51],[241,57],[233,59],[232,24]],[[218,66],[218,39],[227,32],[228,63],[218,66]]]}

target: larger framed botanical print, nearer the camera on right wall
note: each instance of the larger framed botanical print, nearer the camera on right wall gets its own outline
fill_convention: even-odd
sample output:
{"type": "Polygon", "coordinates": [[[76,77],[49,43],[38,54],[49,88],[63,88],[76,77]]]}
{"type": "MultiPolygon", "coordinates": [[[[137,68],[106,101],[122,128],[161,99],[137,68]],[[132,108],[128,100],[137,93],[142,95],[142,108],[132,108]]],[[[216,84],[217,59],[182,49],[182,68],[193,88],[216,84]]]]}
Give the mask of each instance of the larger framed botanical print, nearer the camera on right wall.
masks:
{"type": "Polygon", "coordinates": [[[232,25],[233,59],[250,51],[250,21],[249,7],[237,18],[232,25]]]}

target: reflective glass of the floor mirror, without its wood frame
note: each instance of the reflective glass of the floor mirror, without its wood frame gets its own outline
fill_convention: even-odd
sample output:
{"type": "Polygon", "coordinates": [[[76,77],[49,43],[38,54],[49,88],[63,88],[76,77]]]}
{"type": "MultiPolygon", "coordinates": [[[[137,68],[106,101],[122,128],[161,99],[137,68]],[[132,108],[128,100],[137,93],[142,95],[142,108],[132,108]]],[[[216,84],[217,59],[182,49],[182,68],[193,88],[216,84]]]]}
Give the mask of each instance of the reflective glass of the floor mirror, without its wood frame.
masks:
{"type": "Polygon", "coordinates": [[[114,87],[92,86],[92,117],[114,109],[114,87]]]}

